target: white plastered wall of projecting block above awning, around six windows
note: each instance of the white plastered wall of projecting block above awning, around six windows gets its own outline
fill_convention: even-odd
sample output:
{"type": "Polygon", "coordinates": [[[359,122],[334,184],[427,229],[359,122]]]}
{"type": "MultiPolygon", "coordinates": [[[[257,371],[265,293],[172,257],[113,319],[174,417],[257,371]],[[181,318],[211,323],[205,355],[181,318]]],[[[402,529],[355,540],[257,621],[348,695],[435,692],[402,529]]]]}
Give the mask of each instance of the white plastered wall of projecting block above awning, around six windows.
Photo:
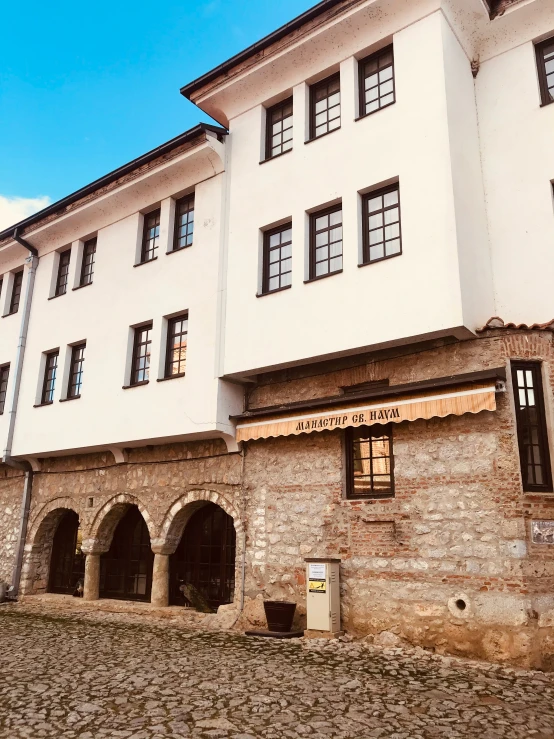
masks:
{"type": "MultiPolygon", "coordinates": [[[[476,316],[488,317],[489,305],[471,305],[464,314],[459,250],[465,245],[458,243],[456,211],[467,212],[471,203],[455,204],[445,33],[437,12],[395,34],[397,102],[359,121],[355,62],[343,62],[342,127],[308,144],[306,86],[295,87],[294,148],[278,159],[258,163],[261,106],[231,121],[227,374],[464,325],[474,329],[476,316]],[[359,268],[359,193],[394,178],[400,182],[403,254],[359,268]],[[306,211],[337,199],[343,203],[344,271],[303,284],[306,211]],[[287,217],[293,222],[292,288],[256,298],[259,229],[287,217]]],[[[292,82],[279,78],[283,90],[292,82]]],[[[268,97],[275,93],[267,90],[268,97]]],[[[475,136],[474,118],[473,124],[475,136]]],[[[475,146],[473,153],[475,159],[475,146]]],[[[455,174],[457,189],[467,192],[475,172],[457,163],[455,174]]],[[[468,282],[464,277],[463,286],[468,282]]],[[[473,291],[471,299],[480,300],[482,292],[473,291]]]]}

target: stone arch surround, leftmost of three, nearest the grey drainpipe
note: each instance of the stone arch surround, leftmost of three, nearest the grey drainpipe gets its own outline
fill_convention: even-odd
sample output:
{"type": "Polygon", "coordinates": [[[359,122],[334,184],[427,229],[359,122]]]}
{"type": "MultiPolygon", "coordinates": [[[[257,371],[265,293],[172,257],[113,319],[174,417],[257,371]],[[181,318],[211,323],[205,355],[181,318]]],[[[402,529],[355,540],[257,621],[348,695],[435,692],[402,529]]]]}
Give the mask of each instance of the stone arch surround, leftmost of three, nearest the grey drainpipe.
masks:
{"type": "Polygon", "coordinates": [[[25,545],[20,590],[23,595],[45,593],[48,588],[54,534],[62,517],[70,510],[81,519],[71,498],[54,498],[33,518],[25,545]]]}

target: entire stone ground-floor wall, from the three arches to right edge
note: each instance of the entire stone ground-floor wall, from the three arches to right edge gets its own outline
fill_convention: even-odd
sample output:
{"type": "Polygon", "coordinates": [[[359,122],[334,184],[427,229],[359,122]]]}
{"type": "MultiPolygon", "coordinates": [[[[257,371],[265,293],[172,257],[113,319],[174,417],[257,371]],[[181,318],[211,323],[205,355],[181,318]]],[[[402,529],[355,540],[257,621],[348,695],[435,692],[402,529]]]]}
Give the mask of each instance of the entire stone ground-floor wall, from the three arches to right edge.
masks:
{"type": "MultiPolygon", "coordinates": [[[[248,404],[330,397],[377,380],[396,385],[509,370],[510,359],[530,358],[543,362],[551,427],[554,350],[545,331],[492,331],[424,351],[289,369],[261,378],[248,404]]],[[[244,596],[241,626],[265,625],[266,599],[296,601],[296,625],[304,626],[304,559],[338,557],[349,632],[393,632],[444,652],[554,668],[554,547],[530,536],[532,519],[554,520],[554,491],[522,491],[510,383],[497,394],[495,412],[395,425],[394,498],[346,499],[344,443],[337,430],[249,442],[231,454],[214,440],[131,449],[122,464],[109,453],[42,460],[22,587],[46,589],[60,511],[79,514],[86,551],[94,555],[107,551],[124,510],[137,505],[153,550],[164,557],[175,551],[195,506],[210,500],[235,522],[231,609],[238,615],[244,596]]],[[[22,480],[0,477],[0,512],[13,508],[5,492],[12,486],[21,490],[22,480]]],[[[2,536],[18,524],[17,509],[9,515],[2,536]]],[[[11,555],[1,546],[4,572],[11,555]]]]}

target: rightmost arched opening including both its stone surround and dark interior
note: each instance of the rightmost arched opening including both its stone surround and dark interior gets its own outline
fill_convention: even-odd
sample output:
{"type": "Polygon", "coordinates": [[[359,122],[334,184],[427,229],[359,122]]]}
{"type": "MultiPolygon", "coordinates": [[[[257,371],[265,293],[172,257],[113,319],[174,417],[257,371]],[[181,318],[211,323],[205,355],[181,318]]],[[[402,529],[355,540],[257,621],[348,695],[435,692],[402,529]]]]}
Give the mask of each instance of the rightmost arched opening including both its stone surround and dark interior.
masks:
{"type": "MultiPolygon", "coordinates": [[[[169,559],[164,565],[169,602],[180,605],[190,602],[180,589],[187,583],[200,590],[212,610],[238,602],[243,532],[237,510],[220,493],[193,490],[175,501],[165,516],[159,538],[152,542],[160,565],[162,560],[169,559]],[[207,559],[208,552],[210,561],[202,561],[207,559]]],[[[160,593],[163,591],[162,588],[160,593]]],[[[153,597],[153,601],[162,603],[164,597],[159,600],[153,597]]]]}

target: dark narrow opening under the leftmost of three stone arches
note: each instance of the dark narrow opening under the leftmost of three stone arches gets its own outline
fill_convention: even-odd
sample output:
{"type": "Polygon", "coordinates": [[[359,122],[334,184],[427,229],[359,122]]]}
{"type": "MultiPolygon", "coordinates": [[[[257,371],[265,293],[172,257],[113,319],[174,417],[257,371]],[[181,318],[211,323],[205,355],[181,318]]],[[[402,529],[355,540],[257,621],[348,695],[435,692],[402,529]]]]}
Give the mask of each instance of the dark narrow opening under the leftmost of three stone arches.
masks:
{"type": "Polygon", "coordinates": [[[48,592],[73,595],[85,577],[85,555],[81,551],[79,516],[66,511],[54,534],[48,592]]]}

